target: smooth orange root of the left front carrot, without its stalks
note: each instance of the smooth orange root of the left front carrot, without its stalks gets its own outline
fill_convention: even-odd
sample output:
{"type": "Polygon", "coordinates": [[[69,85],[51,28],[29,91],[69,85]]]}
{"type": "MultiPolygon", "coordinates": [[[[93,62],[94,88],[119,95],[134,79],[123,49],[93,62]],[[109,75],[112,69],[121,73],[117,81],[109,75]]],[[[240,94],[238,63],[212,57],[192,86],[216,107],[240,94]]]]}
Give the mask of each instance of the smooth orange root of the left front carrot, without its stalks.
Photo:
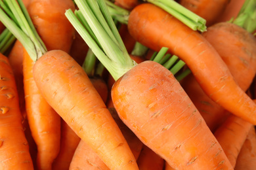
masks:
{"type": "Polygon", "coordinates": [[[53,109],[110,169],[138,169],[109,110],[71,56],[61,50],[47,52],[35,63],[33,77],[53,109]]]}

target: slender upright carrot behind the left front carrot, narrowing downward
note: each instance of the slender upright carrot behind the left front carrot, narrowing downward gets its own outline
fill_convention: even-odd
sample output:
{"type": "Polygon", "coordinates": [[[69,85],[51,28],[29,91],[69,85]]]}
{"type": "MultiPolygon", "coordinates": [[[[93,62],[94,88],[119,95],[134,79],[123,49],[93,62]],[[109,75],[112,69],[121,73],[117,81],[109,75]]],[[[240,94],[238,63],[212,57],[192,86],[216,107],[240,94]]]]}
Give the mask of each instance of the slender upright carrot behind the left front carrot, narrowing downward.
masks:
{"type": "Polygon", "coordinates": [[[47,103],[33,79],[35,62],[24,49],[23,73],[26,112],[37,144],[37,168],[51,169],[60,150],[60,116],[47,103]]]}

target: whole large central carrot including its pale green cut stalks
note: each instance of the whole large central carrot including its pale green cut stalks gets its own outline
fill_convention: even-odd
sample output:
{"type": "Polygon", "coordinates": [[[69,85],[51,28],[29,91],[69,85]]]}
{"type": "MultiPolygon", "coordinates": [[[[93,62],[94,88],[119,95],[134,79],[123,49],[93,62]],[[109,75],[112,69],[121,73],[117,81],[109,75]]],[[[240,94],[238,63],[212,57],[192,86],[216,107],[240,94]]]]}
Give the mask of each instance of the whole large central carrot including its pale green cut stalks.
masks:
{"type": "Polygon", "coordinates": [[[233,169],[171,71],[155,61],[134,64],[119,41],[104,1],[75,3],[84,17],[77,18],[86,20],[93,33],[71,10],[66,16],[116,80],[114,107],[140,141],[176,169],[233,169]]]}

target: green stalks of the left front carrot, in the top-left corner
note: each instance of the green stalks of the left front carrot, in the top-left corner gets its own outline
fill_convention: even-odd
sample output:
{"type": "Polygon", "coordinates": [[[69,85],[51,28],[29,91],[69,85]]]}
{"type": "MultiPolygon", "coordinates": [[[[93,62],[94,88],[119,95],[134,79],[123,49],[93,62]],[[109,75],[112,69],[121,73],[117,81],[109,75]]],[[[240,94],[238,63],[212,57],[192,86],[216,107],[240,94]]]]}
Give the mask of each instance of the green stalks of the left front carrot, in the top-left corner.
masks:
{"type": "Polygon", "coordinates": [[[47,49],[22,0],[0,0],[0,5],[1,22],[22,43],[33,61],[43,56],[47,49]]]}

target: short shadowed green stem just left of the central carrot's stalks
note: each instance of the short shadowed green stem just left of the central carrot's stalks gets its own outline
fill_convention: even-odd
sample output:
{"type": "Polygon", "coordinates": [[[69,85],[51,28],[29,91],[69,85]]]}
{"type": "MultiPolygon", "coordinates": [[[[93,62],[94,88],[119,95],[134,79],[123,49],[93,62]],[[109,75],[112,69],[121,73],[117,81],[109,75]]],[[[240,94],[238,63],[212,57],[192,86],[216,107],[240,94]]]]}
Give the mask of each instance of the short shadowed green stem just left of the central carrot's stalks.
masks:
{"type": "Polygon", "coordinates": [[[83,70],[85,71],[85,73],[87,73],[88,76],[94,76],[95,73],[95,63],[96,63],[96,56],[93,53],[93,51],[91,50],[91,48],[89,48],[89,50],[87,51],[87,55],[85,57],[85,61],[83,62],[83,70]]]}

